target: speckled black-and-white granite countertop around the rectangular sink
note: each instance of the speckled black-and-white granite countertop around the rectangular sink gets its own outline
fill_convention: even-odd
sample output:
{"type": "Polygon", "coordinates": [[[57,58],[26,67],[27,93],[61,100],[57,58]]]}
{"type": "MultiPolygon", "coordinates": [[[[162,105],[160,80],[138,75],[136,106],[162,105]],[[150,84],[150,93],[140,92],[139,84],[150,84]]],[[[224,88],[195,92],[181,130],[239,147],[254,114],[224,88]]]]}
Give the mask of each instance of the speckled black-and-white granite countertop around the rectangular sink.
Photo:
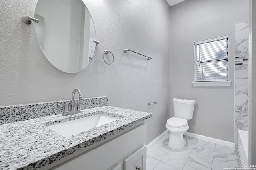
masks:
{"type": "Polygon", "coordinates": [[[151,113],[103,106],[75,115],[58,114],[0,125],[0,169],[42,168],[150,117],[151,113]],[[121,119],[69,137],[47,127],[98,113],[121,119]]]}

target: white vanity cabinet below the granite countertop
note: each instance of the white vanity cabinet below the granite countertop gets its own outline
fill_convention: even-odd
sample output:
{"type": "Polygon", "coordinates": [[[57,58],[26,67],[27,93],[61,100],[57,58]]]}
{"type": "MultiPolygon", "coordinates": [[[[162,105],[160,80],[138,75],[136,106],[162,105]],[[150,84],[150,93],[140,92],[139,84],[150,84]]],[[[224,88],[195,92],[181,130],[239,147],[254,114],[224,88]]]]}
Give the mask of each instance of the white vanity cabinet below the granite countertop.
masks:
{"type": "Polygon", "coordinates": [[[146,170],[145,143],[146,123],[140,123],[42,170],[146,170]]]}

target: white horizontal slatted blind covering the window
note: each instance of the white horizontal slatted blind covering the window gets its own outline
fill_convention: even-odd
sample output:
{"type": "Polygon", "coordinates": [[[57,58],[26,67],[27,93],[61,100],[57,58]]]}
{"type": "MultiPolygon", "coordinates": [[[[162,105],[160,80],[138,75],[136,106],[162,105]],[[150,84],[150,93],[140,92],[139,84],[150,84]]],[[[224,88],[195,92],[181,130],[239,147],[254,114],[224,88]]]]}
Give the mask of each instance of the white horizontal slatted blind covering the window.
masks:
{"type": "Polygon", "coordinates": [[[228,36],[195,42],[195,82],[228,81],[228,36]]]}

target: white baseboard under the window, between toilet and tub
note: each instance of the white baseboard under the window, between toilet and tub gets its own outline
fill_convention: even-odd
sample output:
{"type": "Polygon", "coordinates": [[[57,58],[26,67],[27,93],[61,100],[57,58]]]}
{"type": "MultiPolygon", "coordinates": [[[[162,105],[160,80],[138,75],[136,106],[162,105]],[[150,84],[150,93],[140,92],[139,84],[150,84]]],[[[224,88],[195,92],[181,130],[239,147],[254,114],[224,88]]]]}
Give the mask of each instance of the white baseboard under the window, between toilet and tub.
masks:
{"type": "Polygon", "coordinates": [[[197,139],[202,139],[202,140],[209,141],[209,142],[213,142],[213,143],[218,143],[218,144],[221,144],[221,145],[226,145],[228,147],[233,147],[233,148],[235,147],[235,143],[233,143],[233,142],[228,142],[228,141],[223,141],[223,140],[220,140],[220,139],[215,139],[215,138],[212,138],[212,137],[198,135],[196,133],[185,132],[184,135],[194,137],[194,138],[197,138],[197,139]]]}

